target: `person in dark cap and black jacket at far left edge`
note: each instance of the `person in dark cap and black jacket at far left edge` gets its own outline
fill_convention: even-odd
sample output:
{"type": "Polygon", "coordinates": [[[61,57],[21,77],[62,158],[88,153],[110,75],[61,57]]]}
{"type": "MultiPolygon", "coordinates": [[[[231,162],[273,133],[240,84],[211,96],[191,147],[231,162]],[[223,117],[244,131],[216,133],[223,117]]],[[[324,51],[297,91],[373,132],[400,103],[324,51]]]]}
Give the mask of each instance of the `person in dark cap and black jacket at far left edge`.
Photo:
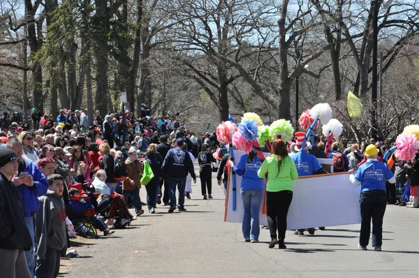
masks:
{"type": "Polygon", "coordinates": [[[1,277],[30,278],[24,251],[32,247],[24,224],[16,186],[10,182],[17,174],[19,156],[8,148],[0,149],[0,273],[1,277]]]}

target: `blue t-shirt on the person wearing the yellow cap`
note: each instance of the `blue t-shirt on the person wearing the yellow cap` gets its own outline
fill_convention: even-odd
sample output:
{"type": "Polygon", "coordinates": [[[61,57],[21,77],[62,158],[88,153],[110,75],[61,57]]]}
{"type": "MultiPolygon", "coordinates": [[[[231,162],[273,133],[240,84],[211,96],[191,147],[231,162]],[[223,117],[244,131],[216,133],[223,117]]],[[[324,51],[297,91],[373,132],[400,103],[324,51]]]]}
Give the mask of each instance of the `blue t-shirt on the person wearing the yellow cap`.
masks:
{"type": "Polygon", "coordinates": [[[387,164],[381,161],[367,161],[358,168],[355,180],[361,182],[361,192],[370,190],[385,191],[385,180],[390,180],[394,174],[387,164]]]}

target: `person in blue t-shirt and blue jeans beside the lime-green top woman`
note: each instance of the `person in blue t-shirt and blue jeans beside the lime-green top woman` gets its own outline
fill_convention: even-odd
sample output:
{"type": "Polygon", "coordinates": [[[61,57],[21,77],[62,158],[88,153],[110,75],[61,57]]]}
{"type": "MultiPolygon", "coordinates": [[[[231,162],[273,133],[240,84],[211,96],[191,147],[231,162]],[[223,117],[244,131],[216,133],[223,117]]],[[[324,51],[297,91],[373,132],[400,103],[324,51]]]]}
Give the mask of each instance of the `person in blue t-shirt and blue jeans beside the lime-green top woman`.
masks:
{"type": "Polygon", "coordinates": [[[240,157],[239,165],[234,166],[230,161],[230,166],[237,175],[242,176],[240,193],[242,194],[244,215],[242,232],[245,242],[259,242],[259,212],[260,204],[263,200],[263,179],[258,177],[260,159],[256,152],[249,152],[240,157]]]}

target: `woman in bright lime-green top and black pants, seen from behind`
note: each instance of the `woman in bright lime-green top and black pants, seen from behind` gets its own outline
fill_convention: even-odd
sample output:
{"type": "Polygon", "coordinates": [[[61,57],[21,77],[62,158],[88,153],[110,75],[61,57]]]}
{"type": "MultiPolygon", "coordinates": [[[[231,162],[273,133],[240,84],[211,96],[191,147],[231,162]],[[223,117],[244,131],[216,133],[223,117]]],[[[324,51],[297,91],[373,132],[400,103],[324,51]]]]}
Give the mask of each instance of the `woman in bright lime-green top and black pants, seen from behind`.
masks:
{"type": "Polygon", "coordinates": [[[297,180],[298,173],[293,160],[288,156],[286,143],[281,139],[274,141],[271,155],[258,170],[258,177],[265,177],[266,174],[267,225],[271,236],[269,248],[279,243],[279,249],[286,249],[286,216],[293,200],[293,180],[297,180]]]}

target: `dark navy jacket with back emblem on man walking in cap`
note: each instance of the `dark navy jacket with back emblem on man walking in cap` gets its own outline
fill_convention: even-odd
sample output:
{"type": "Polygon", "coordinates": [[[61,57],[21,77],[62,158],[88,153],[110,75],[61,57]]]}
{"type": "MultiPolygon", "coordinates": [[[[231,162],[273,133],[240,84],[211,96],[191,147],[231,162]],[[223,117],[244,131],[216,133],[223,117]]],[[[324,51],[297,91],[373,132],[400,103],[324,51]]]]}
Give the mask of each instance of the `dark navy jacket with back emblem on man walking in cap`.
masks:
{"type": "Polygon", "coordinates": [[[166,177],[180,177],[186,178],[188,173],[191,174],[193,179],[196,179],[195,170],[191,156],[179,147],[170,149],[166,158],[163,161],[163,173],[166,177]]]}

